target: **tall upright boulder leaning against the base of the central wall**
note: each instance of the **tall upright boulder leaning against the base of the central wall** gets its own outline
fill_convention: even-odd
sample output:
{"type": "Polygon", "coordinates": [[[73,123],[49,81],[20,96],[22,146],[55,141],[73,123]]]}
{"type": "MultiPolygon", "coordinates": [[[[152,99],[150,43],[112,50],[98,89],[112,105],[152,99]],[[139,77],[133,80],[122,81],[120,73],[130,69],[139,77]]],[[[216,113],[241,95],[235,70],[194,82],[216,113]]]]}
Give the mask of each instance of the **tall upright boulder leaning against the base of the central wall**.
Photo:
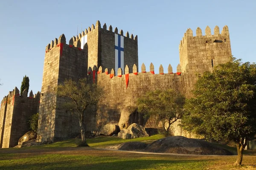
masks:
{"type": "Polygon", "coordinates": [[[128,106],[121,111],[118,126],[120,130],[128,128],[131,124],[137,123],[143,125],[143,114],[138,112],[138,108],[135,106],[128,106]]]}

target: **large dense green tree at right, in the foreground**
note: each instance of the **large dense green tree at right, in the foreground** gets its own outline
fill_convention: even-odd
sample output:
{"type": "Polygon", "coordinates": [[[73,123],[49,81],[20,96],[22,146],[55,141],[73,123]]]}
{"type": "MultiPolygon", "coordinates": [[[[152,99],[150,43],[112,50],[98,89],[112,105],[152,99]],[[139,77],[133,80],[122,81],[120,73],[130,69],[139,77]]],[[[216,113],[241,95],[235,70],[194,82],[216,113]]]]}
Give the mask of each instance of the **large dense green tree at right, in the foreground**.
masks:
{"type": "Polygon", "coordinates": [[[241,59],[221,64],[198,77],[183,116],[185,130],[206,139],[236,143],[241,165],[248,139],[256,134],[256,64],[241,59]]]}

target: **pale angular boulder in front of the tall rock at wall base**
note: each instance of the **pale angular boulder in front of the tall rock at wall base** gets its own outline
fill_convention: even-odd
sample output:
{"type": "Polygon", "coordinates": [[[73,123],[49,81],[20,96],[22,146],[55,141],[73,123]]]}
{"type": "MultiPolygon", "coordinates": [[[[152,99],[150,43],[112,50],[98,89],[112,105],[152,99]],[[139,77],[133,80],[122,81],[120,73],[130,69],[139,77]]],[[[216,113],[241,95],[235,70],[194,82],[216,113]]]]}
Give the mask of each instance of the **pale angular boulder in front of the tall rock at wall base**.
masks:
{"type": "Polygon", "coordinates": [[[123,129],[118,133],[118,137],[122,139],[134,139],[146,136],[148,136],[148,133],[145,127],[137,123],[131,124],[127,129],[123,129]]]}

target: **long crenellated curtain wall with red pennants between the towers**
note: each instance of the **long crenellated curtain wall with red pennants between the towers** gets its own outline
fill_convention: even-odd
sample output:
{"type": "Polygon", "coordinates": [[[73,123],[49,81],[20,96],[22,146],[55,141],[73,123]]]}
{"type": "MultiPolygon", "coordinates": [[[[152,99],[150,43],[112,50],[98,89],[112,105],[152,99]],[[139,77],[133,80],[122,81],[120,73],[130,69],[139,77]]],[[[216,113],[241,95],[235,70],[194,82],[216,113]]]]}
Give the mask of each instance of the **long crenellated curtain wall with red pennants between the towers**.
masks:
{"type": "MultiPolygon", "coordinates": [[[[144,64],[143,64],[144,65],[144,64]]],[[[178,65],[177,70],[180,69],[178,65]]],[[[102,68],[99,68],[101,71],[102,68]]],[[[142,68],[145,71],[144,68],[142,68]]],[[[110,74],[102,73],[102,71],[96,75],[96,82],[104,88],[105,94],[102,96],[101,102],[97,106],[96,116],[91,116],[89,113],[86,116],[87,130],[99,130],[102,125],[115,124],[117,125],[120,118],[120,113],[123,108],[128,106],[136,106],[138,97],[145,94],[147,91],[154,91],[157,89],[166,90],[169,88],[179,91],[186,97],[191,96],[191,90],[193,84],[196,81],[194,74],[189,73],[172,73],[172,68],[169,66],[168,73],[163,73],[163,67],[160,66],[159,72],[161,74],[154,73],[154,65],[150,65],[150,71],[146,73],[134,73],[137,72],[137,67],[133,69],[125,69],[125,75],[129,72],[134,72],[129,75],[128,87],[126,88],[126,76],[122,74],[121,69],[117,71],[117,75],[110,78],[110,74]],[[133,70],[133,71],[130,71],[133,70]],[[122,76],[121,76],[122,75],[122,76]],[[121,76],[121,77],[119,77],[121,76]]],[[[113,74],[114,70],[111,70],[113,74]]],[[[92,75],[88,76],[90,82],[93,82],[92,75]]],[[[177,123],[176,123],[177,124],[177,123]]],[[[145,127],[156,127],[155,122],[150,120],[145,124],[145,127]]],[[[180,127],[175,127],[176,135],[184,135],[180,127]]]]}

